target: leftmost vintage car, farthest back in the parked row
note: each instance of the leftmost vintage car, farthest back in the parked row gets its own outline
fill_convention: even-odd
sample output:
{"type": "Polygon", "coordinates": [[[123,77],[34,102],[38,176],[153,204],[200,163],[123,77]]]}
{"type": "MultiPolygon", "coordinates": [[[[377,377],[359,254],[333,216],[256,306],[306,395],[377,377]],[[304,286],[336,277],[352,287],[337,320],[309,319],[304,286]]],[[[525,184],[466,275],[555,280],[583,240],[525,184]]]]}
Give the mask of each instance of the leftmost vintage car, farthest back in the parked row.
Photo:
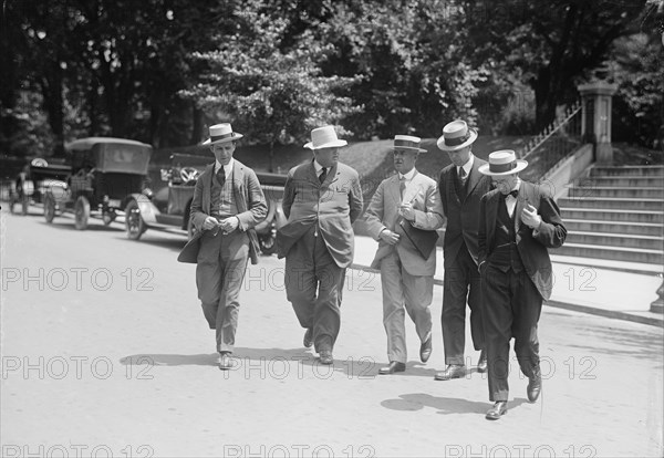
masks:
{"type": "Polygon", "coordinates": [[[64,158],[35,157],[18,174],[9,190],[9,210],[21,205],[21,214],[28,215],[31,202],[42,204],[46,189],[53,180],[63,180],[72,168],[64,158]]]}

